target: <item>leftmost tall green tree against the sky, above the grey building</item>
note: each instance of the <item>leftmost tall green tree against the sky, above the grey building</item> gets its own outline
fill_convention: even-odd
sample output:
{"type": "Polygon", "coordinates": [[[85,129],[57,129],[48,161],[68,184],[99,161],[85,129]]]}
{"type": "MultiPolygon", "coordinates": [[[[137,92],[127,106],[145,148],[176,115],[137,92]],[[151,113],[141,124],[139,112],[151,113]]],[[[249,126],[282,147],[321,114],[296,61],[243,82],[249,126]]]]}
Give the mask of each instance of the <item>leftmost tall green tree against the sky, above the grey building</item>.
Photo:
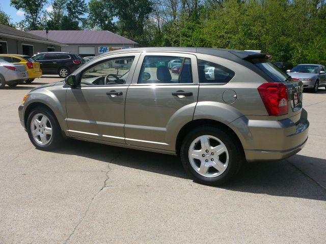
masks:
{"type": "Polygon", "coordinates": [[[25,12],[25,20],[22,23],[25,23],[26,28],[31,30],[40,28],[39,24],[42,21],[45,4],[47,4],[47,0],[11,0],[10,2],[15,9],[25,12]]]}

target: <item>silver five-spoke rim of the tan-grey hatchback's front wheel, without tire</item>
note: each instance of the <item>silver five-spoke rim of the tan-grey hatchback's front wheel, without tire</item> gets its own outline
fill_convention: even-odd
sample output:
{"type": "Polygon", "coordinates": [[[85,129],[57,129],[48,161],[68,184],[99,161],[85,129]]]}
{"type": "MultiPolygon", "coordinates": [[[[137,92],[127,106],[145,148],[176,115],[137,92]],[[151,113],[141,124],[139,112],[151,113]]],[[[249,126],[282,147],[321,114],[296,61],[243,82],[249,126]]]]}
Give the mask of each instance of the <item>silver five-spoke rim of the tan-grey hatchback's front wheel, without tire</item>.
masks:
{"type": "Polygon", "coordinates": [[[52,125],[43,113],[35,114],[31,121],[33,139],[40,145],[46,145],[52,138],[52,125]]]}

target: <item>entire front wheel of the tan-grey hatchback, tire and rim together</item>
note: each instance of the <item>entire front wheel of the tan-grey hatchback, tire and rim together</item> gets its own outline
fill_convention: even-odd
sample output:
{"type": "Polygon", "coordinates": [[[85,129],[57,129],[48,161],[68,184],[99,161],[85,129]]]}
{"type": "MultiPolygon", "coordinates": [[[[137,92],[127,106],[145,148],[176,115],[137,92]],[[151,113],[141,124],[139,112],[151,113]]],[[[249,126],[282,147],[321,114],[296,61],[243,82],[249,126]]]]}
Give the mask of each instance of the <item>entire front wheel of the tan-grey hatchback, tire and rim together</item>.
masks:
{"type": "Polygon", "coordinates": [[[45,107],[36,107],[32,110],[27,119],[26,129],[31,142],[40,150],[52,150],[63,140],[57,118],[45,107]]]}

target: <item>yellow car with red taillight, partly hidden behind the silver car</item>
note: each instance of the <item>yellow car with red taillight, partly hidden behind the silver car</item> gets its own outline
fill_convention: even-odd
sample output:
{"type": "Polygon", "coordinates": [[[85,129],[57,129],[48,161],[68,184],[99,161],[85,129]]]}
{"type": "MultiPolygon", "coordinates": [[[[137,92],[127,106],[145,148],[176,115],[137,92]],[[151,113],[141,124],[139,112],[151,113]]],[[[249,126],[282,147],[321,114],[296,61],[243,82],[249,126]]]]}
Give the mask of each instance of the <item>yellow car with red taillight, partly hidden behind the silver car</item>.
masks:
{"type": "Polygon", "coordinates": [[[35,60],[30,56],[22,54],[0,54],[0,59],[3,59],[9,63],[24,65],[29,73],[29,79],[25,81],[27,83],[30,83],[35,78],[42,76],[40,63],[35,62],[35,60]]]}

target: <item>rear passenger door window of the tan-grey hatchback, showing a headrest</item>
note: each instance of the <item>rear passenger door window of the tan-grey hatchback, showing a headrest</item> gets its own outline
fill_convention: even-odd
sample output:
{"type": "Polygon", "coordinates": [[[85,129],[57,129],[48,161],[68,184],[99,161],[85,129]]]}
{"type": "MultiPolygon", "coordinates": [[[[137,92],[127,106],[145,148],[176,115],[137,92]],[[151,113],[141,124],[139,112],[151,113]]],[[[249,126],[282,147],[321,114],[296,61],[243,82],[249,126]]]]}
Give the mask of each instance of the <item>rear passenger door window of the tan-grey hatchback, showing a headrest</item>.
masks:
{"type": "Polygon", "coordinates": [[[191,59],[145,56],[138,83],[192,83],[191,59]]]}

